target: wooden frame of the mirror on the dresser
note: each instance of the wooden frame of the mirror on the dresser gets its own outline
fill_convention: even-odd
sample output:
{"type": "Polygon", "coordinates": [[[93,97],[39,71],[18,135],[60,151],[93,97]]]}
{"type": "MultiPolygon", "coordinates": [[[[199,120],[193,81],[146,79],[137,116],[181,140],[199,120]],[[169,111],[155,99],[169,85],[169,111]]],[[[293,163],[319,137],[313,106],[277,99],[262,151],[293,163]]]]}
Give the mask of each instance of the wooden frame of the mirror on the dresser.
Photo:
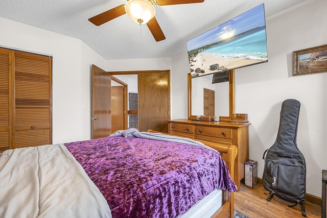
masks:
{"type": "MultiPolygon", "coordinates": [[[[220,121],[231,122],[235,109],[234,103],[234,73],[235,70],[229,70],[229,116],[219,116],[220,121]]],[[[196,115],[192,115],[192,76],[188,74],[188,104],[189,104],[189,119],[196,119],[196,115]]]]}

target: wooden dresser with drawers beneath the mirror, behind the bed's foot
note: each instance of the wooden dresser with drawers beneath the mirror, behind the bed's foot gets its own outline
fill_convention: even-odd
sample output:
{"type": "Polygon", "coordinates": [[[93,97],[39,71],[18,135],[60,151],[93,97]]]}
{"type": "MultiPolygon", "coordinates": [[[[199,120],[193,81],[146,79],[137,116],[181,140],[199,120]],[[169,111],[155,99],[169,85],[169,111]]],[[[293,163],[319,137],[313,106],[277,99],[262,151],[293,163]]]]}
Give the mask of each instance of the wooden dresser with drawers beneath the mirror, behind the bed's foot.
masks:
{"type": "Polygon", "coordinates": [[[238,148],[235,161],[234,181],[240,189],[244,178],[244,163],[249,159],[250,123],[193,121],[191,119],[173,119],[168,121],[168,133],[188,138],[233,144],[238,148]]]}

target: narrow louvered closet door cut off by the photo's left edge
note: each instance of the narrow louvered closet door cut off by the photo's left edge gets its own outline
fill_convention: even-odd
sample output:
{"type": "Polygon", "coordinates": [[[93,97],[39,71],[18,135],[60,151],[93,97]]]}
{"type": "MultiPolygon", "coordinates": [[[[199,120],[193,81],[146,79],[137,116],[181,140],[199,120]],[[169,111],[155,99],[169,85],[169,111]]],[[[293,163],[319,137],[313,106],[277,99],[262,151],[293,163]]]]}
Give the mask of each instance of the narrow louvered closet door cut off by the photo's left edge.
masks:
{"type": "Polygon", "coordinates": [[[0,48],[0,152],[11,144],[12,51],[0,48]]]}

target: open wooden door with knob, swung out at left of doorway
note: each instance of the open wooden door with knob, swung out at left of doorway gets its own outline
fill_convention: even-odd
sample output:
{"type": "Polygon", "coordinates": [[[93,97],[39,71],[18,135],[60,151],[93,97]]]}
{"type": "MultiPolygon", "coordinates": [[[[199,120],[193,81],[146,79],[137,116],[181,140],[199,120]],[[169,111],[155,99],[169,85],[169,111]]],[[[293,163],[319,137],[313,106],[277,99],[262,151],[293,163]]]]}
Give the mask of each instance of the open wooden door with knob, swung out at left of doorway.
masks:
{"type": "Polygon", "coordinates": [[[111,134],[110,92],[111,76],[103,69],[92,65],[92,138],[111,134]]]}

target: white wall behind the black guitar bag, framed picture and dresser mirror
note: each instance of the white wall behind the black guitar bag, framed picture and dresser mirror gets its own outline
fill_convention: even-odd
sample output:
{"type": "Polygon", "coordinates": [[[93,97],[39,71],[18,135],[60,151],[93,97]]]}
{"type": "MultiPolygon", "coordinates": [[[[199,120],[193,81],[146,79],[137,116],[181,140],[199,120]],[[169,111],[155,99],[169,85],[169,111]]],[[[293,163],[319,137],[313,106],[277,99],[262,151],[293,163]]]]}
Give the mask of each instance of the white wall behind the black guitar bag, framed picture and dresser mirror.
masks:
{"type": "MultiPolygon", "coordinates": [[[[263,175],[263,153],[277,136],[282,102],[296,99],[301,103],[297,146],[306,159],[307,193],[318,197],[321,171],[327,168],[327,73],[293,77],[292,52],[327,44],[326,8],[325,0],[308,0],[266,18],[268,62],[235,70],[236,112],[248,114],[249,158],[258,161],[258,176],[263,175]]],[[[178,69],[172,80],[183,78],[178,90],[187,93],[189,66],[184,56],[172,58],[173,69],[178,69]]],[[[187,104],[185,94],[174,101],[187,104]]],[[[173,113],[179,110],[173,107],[173,113]]],[[[183,110],[187,116],[187,108],[183,110]]]]}

